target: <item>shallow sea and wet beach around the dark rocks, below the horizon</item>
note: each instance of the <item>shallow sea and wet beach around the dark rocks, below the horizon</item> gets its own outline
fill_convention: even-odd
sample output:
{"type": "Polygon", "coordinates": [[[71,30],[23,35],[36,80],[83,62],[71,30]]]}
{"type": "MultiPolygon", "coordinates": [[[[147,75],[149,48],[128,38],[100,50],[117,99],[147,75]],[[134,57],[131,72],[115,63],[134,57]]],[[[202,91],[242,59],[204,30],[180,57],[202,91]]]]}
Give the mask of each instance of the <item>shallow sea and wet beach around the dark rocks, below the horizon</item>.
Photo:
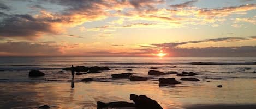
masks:
{"type": "MultiPolygon", "coordinates": [[[[251,64],[255,59],[222,58],[225,60],[222,63],[225,64],[218,63],[217,65],[184,64],[215,62],[214,58],[164,60],[123,58],[114,61],[113,58],[98,59],[102,61],[90,58],[69,58],[69,61],[63,58],[61,59],[64,61],[60,61],[58,58],[58,60],[54,59],[37,59],[33,62],[27,60],[19,62],[20,60],[16,59],[16,63],[9,59],[9,62],[7,62],[8,60],[2,62],[0,68],[4,71],[0,72],[0,98],[2,99],[0,108],[39,108],[43,105],[48,105],[50,108],[97,108],[97,101],[133,102],[129,99],[130,94],[146,95],[166,109],[255,108],[256,74],[253,71],[256,66],[251,64]],[[79,63],[77,60],[81,60],[81,62],[79,63]],[[127,60],[129,61],[127,62],[127,60]],[[75,62],[78,63],[74,64],[75,62]],[[61,73],[58,71],[73,64],[89,67],[108,66],[110,70],[75,75],[72,83],[70,71],[61,73]],[[150,67],[158,68],[150,69],[150,67]],[[31,78],[28,76],[30,69],[41,70],[45,76],[31,78]],[[127,71],[127,69],[132,69],[132,71],[127,71]],[[194,72],[198,75],[189,77],[198,78],[200,81],[183,81],[181,80],[183,76],[176,76],[176,74],[148,75],[149,70],[194,72]],[[147,77],[148,80],[130,81],[127,78],[111,78],[111,74],[126,72],[147,77]],[[84,78],[93,78],[98,81],[81,82],[84,78]],[[181,84],[159,86],[159,78],[175,78],[181,84]],[[222,87],[217,87],[217,85],[222,85],[222,87]]],[[[219,59],[217,61],[219,62],[219,59]]]]}

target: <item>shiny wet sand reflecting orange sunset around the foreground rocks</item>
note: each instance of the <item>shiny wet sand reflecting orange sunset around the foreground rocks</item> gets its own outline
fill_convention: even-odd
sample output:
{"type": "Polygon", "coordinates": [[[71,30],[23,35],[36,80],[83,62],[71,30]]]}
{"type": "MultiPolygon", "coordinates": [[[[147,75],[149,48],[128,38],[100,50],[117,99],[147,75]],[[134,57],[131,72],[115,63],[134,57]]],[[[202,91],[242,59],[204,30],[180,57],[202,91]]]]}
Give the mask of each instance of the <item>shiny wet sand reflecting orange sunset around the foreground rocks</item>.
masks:
{"type": "Polygon", "coordinates": [[[0,83],[0,108],[97,108],[96,102],[127,101],[147,95],[163,108],[255,108],[256,80],[182,81],[159,87],[158,81],[0,83]],[[216,87],[223,85],[222,88],[216,87]]]}

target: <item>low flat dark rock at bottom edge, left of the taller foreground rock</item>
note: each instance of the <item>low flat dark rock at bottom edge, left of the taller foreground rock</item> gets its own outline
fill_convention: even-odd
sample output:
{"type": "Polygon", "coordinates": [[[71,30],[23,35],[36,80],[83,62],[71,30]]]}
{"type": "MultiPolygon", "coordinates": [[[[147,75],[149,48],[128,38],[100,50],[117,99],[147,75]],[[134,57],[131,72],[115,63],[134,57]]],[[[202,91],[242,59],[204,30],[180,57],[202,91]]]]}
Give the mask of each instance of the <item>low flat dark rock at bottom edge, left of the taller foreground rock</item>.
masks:
{"type": "Polygon", "coordinates": [[[109,102],[109,103],[104,103],[104,102],[97,102],[97,108],[121,108],[121,107],[135,107],[134,103],[129,103],[129,102],[123,102],[123,101],[119,101],[119,102],[109,102]]]}

